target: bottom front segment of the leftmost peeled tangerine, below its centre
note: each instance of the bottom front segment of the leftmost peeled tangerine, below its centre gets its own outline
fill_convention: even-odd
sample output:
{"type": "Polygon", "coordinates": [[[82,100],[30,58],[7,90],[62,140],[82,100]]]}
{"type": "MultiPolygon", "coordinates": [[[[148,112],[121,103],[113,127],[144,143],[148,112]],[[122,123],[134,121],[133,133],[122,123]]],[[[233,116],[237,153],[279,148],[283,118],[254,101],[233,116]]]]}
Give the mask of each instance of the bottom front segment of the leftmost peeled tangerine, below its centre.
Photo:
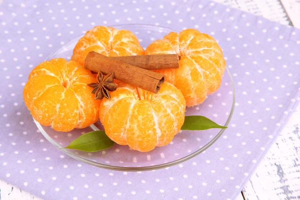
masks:
{"type": "Polygon", "coordinates": [[[57,107],[56,115],[52,120],[52,127],[58,131],[74,129],[78,123],[79,107],[78,100],[70,88],[64,89],[57,107]]]}

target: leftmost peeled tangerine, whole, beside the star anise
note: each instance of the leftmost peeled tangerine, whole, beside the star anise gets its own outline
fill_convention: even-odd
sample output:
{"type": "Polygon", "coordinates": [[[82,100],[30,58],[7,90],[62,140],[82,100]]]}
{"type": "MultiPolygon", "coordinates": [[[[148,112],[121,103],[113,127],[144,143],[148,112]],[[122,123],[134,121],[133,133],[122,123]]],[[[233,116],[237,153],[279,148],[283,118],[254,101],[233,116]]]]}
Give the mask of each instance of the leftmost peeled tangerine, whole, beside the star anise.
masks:
{"type": "Polygon", "coordinates": [[[75,61],[55,58],[29,74],[23,97],[33,118],[57,131],[84,128],[97,121],[100,100],[94,99],[91,72],[75,61]]]}

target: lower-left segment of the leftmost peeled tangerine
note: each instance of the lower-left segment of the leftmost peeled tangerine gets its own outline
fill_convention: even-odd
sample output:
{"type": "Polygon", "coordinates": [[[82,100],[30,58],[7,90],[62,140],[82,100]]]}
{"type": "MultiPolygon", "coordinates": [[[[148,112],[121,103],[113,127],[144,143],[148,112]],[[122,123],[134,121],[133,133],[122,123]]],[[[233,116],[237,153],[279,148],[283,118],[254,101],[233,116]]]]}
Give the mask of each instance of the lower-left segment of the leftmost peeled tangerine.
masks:
{"type": "Polygon", "coordinates": [[[57,114],[63,93],[62,85],[56,84],[47,87],[33,100],[30,109],[33,118],[42,125],[50,125],[57,114]]]}

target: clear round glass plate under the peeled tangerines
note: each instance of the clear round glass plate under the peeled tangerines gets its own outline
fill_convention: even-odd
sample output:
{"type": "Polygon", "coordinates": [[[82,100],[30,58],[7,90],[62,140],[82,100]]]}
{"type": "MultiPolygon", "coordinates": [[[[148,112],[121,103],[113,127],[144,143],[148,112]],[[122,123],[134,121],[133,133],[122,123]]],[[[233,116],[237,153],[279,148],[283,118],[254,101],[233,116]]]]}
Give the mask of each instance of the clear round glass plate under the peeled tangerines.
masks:
{"type": "MultiPolygon", "coordinates": [[[[155,39],[162,38],[168,32],[174,31],[164,27],[144,24],[123,24],[114,25],[113,27],[134,32],[143,47],[146,47],[155,39]]],[[[47,60],[56,57],[70,59],[73,47],[81,36],[72,39],[52,52],[47,60]]],[[[209,95],[202,104],[187,107],[185,114],[204,115],[221,125],[227,126],[233,108],[234,85],[231,75],[226,69],[218,91],[209,95]]],[[[225,131],[225,129],[218,128],[201,131],[180,130],[168,145],[156,147],[150,152],[139,152],[131,150],[127,145],[118,144],[97,152],[84,152],[62,147],[67,146],[73,139],[85,132],[103,129],[99,121],[87,128],[74,129],[70,132],[58,132],[50,126],[43,126],[37,121],[35,123],[48,141],[70,157],[93,166],[124,171],[152,170],[178,164],[203,152],[225,131]]]]}

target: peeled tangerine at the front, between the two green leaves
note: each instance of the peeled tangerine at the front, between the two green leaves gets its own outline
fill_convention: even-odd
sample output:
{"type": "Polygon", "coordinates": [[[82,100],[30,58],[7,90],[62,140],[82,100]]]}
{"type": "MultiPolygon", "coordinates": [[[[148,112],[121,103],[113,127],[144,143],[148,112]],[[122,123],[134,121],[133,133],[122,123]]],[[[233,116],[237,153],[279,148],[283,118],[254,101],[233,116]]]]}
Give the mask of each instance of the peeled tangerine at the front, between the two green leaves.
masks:
{"type": "Polygon", "coordinates": [[[139,151],[168,144],[184,121],[185,100],[174,85],[164,82],[152,93],[119,82],[111,98],[103,98],[99,117],[107,136],[139,151]]]}

